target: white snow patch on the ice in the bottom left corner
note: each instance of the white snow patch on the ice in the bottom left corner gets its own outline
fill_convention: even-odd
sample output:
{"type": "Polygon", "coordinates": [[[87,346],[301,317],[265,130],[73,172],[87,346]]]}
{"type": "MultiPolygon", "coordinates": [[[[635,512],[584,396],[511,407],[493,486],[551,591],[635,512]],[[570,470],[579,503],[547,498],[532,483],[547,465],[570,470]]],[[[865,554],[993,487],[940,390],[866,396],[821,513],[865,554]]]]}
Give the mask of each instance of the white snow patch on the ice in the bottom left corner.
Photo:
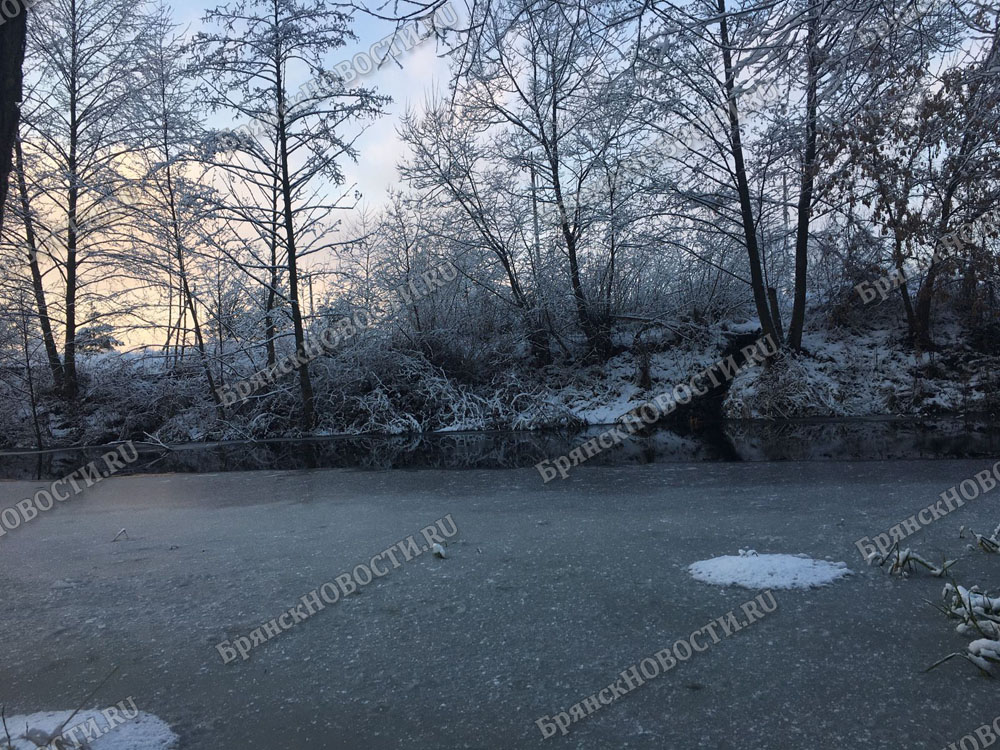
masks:
{"type": "MultiPolygon", "coordinates": [[[[51,734],[66,721],[72,711],[40,711],[34,714],[21,714],[7,717],[7,728],[13,742],[13,750],[38,750],[38,745],[25,738],[25,728],[32,736],[39,733],[51,734]]],[[[153,714],[139,711],[135,718],[122,721],[119,716],[106,717],[100,711],[80,711],[65,727],[63,737],[67,748],[90,747],[91,750],[173,750],[177,747],[177,735],[170,726],[153,714]],[[73,728],[77,730],[74,732],[73,728]],[[89,729],[87,745],[73,744],[73,740],[82,743],[88,737],[85,729],[89,729]]],[[[0,727],[0,748],[6,750],[7,737],[0,727]]]]}

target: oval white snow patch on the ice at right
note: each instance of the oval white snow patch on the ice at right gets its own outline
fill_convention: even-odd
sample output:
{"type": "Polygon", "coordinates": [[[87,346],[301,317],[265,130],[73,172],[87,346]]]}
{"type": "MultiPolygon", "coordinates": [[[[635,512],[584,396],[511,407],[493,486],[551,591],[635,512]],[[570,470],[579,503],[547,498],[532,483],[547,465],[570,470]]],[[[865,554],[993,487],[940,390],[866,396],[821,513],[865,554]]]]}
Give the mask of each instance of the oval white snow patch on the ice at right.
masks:
{"type": "Polygon", "coordinates": [[[808,589],[850,575],[847,563],[813,560],[805,555],[723,555],[688,567],[695,580],[748,589],[808,589]]]}

